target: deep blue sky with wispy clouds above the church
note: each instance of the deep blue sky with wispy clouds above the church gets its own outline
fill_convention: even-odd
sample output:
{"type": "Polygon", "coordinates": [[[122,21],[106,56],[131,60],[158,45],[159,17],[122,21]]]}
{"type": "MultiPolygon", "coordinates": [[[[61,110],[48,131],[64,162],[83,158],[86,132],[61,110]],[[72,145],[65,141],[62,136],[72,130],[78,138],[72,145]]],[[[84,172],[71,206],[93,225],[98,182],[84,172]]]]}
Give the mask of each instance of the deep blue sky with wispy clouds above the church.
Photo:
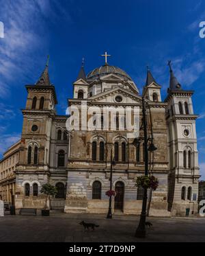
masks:
{"type": "Polygon", "coordinates": [[[34,84],[50,55],[49,73],[57,91],[57,113],[64,115],[72,97],[81,58],[85,71],[104,64],[124,69],[141,91],[146,65],[163,86],[169,84],[167,60],[172,60],[183,89],[193,89],[200,167],[205,179],[205,21],[202,0],[0,0],[0,154],[20,137],[25,84],[34,84]]]}

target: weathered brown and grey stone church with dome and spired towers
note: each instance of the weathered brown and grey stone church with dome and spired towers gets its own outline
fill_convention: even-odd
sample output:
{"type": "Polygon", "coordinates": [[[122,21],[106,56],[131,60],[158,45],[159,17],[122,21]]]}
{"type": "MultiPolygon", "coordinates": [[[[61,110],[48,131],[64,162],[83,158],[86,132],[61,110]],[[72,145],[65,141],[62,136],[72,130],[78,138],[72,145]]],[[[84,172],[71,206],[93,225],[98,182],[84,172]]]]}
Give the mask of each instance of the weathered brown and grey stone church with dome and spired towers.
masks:
{"type": "MultiPolygon", "coordinates": [[[[105,54],[106,55],[106,54],[105,54]]],[[[142,98],[146,105],[149,173],[159,179],[148,193],[150,216],[197,213],[199,167],[191,95],[169,63],[167,97],[148,69],[143,93],[119,67],[105,65],[85,75],[82,65],[68,100],[69,115],[57,115],[55,86],[46,65],[36,84],[29,84],[16,166],[16,209],[44,207],[40,189],[57,187],[53,209],[66,213],[107,213],[112,167],[113,213],[140,214],[144,174],[142,98]],[[112,166],[111,166],[112,165],[112,166]]]]}

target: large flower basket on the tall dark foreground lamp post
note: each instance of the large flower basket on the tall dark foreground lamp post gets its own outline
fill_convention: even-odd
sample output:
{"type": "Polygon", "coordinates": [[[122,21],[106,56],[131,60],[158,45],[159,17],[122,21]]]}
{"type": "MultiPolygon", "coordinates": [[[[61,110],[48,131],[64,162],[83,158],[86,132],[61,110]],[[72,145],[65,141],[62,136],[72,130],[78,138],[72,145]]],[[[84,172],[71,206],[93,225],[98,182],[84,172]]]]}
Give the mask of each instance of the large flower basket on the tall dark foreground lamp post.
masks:
{"type": "Polygon", "coordinates": [[[154,176],[139,176],[135,182],[135,187],[143,187],[144,189],[156,190],[159,186],[159,181],[154,176]]]}

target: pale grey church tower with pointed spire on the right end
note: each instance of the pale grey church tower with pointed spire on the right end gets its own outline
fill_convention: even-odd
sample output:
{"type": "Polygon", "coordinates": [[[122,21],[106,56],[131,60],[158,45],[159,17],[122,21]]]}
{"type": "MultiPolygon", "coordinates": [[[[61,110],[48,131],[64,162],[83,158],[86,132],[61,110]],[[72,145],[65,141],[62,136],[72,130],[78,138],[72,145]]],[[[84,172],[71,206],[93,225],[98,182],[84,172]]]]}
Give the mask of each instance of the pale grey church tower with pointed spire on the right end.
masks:
{"type": "Polygon", "coordinates": [[[169,211],[173,216],[197,213],[198,152],[195,119],[191,96],[178,82],[168,62],[170,81],[167,102],[167,130],[169,152],[169,211]]]}

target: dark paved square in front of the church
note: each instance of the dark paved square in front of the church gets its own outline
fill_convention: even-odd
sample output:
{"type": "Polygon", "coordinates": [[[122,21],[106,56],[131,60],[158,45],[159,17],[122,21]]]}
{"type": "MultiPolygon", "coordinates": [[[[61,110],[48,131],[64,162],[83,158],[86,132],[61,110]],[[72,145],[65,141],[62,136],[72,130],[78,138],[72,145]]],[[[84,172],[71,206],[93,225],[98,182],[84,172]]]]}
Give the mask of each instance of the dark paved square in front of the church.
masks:
{"type": "Polygon", "coordinates": [[[139,216],[51,213],[0,217],[0,242],[205,242],[205,218],[148,218],[147,237],[134,236],[139,216]],[[81,220],[100,225],[84,231],[81,220]]]}

